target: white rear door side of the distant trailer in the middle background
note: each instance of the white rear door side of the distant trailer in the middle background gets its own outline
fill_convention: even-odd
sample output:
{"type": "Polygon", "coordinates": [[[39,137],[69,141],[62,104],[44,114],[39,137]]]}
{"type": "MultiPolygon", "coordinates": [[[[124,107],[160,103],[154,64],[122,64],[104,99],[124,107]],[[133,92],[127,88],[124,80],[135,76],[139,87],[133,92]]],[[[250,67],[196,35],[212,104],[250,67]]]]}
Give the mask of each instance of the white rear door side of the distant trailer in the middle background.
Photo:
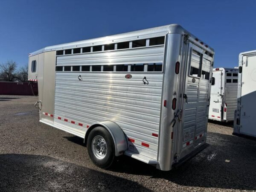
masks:
{"type": "Polygon", "coordinates": [[[221,121],[221,104],[222,104],[222,74],[223,71],[214,71],[212,73],[211,100],[209,108],[209,118],[221,121]]]}

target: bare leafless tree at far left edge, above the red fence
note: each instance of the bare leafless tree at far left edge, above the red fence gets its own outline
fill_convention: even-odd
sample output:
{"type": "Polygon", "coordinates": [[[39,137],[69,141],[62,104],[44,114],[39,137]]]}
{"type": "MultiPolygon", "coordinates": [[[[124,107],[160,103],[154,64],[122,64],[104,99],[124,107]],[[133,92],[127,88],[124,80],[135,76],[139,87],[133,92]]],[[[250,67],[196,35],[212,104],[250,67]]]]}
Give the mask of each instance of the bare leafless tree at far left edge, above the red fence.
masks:
{"type": "Polygon", "coordinates": [[[17,64],[14,61],[7,61],[0,64],[0,80],[1,81],[17,81],[17,64]]]}

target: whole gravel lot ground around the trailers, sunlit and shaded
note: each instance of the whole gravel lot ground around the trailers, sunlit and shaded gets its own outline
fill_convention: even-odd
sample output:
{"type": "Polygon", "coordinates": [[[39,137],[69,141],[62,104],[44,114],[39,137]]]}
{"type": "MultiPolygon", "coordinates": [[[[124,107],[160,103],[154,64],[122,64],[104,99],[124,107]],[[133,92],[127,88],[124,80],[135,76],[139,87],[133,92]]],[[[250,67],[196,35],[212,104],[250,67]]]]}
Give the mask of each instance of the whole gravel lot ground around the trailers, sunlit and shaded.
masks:
{"type": "Polygon", "coordinates": [[[0,96],[0,191],[256,190],[256,141],[209,122],[209,147],[163,172],[120,157],[109,170],[91,163],[83,140],[39,123],[35,96],[0,96]]]}

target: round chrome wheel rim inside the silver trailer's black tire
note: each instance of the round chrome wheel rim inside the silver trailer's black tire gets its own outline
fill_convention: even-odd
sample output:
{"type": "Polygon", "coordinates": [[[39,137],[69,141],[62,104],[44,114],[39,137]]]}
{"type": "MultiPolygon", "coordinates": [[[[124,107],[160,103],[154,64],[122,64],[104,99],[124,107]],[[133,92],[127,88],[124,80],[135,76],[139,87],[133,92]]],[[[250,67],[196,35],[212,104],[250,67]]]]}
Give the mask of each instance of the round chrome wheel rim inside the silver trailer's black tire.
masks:
{"type": "Polygon", "coordinates": [[[107,143],[105,139],[97,135],[93,138],[92,141],[92,150],[93,154],[97,159],[103,159],[107,154],[107,143]]]}

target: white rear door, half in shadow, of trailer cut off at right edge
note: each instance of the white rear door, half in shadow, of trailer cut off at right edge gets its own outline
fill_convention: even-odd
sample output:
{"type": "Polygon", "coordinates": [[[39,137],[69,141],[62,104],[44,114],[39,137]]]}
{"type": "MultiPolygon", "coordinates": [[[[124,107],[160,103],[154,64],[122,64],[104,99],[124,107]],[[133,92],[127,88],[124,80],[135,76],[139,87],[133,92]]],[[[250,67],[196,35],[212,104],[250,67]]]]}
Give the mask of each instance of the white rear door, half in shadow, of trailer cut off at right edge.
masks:
{"type": "Polygon", "coordinates": [[[243,56],[240,134],[256,137],[256,54],[243,56]]]}

